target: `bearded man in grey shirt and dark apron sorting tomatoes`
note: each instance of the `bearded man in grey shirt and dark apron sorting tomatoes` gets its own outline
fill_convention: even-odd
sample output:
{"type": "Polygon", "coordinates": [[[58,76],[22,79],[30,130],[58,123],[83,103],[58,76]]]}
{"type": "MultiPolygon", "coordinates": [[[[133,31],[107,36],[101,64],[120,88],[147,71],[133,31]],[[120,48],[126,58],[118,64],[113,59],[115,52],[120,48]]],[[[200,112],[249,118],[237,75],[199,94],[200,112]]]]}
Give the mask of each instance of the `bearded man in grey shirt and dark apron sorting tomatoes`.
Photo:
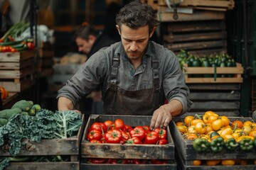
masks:
{"type": "Polygon", "coordinates": [[[151,6],[132,1],[116,22],[121,42],[87,60],[60,89],[58,109],[74,110],[80,98],[101,86],[105,113],[152,115],[151,129],[166,128],[172,116],[186,113],[192,104],[178,58],[149,40],[159,25],[151,6]]]}

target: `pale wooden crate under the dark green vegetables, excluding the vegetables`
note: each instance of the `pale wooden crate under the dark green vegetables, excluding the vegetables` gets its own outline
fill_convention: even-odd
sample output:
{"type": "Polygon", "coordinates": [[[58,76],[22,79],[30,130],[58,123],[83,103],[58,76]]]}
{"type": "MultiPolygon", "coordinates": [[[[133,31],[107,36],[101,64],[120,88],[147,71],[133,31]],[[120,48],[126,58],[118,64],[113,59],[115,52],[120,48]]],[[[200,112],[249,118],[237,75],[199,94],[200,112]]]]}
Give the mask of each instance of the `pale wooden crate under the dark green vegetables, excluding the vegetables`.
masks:
{"type": "Polygon", "coordinates": [[[242,83],[243,67],[240,63],[236,67],[188,67],[184,64],[182,69],[187,84],[242,83]],[[212,77],[206,77],[208,74],[212,77]]]}

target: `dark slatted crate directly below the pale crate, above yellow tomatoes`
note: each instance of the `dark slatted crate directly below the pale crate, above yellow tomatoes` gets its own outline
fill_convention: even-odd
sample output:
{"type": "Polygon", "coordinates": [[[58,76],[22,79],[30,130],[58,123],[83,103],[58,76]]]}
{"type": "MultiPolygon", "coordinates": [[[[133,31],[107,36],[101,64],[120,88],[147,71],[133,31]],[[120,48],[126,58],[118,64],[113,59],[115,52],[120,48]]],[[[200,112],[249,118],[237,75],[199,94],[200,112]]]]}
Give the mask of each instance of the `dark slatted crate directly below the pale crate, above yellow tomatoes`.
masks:
{"type": "Polygon", "coordinates": [[[240,116],[241,84],[187,84],[191,110],[185,115],[203,115],[214,111],[228,117],[240,116]]]}

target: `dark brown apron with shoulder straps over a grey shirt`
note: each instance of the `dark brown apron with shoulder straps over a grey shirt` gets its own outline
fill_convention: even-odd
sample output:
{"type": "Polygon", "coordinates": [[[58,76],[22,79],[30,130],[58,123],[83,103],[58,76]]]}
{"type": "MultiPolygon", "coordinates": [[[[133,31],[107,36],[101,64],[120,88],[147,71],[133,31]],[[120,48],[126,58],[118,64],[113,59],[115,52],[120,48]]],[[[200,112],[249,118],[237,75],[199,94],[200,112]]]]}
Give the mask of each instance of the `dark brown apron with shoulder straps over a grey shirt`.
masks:
{"type": "Polygon", "coordinates": [[[154,86],[151,89],[126,91],[117,86],[119,55],[112,60],[111,83],[107,87],[104,113],[110,115],[153,115],[164,104],[164,91],[159,87],[159,60],[151,60],[154,86]]]}

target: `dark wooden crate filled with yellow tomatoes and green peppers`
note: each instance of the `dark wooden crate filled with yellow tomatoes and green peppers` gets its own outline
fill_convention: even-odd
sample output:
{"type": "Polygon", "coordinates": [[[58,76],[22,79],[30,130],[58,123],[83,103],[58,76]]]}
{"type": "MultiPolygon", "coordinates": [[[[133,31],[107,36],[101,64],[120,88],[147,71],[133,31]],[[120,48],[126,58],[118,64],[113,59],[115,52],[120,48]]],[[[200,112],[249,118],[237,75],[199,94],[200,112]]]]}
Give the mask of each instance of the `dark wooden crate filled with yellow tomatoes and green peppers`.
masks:
{"type": "Polygon", "coordinates": [[[174,118],[171,129],[181,169],[255,168],[256,123],[252,118],[206,111],[174,118]]]}

